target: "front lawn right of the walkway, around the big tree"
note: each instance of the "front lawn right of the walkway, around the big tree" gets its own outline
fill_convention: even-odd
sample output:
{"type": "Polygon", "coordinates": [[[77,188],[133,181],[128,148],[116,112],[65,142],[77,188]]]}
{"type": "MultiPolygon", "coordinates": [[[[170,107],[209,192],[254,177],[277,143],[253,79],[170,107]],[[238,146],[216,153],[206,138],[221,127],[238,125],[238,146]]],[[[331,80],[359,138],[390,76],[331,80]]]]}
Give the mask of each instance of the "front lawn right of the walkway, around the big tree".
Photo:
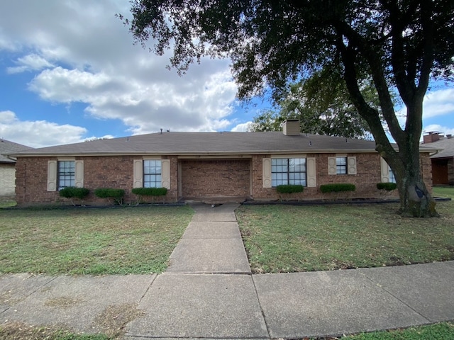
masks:
{"type": "Polygon", "coordinates": [[[437,204],[439,218],[404,218],[398,209],[391,203],[243,205],[236,215],[254,273],[454,259],[453,201],[437,204]]]}

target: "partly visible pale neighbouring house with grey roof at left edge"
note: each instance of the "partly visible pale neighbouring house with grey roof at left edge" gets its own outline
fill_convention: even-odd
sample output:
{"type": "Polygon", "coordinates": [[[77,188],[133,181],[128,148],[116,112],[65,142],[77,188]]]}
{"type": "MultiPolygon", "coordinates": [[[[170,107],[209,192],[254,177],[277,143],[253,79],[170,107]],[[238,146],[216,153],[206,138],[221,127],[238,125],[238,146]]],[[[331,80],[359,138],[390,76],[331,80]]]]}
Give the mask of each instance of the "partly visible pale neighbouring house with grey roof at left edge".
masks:
{"type": "Polygon", "coordinates": [[[0,200],[9,200],[15,197],[16,159],[7,155],[25,149],[31,148],[9,140],[0,140],[0,200]]]}

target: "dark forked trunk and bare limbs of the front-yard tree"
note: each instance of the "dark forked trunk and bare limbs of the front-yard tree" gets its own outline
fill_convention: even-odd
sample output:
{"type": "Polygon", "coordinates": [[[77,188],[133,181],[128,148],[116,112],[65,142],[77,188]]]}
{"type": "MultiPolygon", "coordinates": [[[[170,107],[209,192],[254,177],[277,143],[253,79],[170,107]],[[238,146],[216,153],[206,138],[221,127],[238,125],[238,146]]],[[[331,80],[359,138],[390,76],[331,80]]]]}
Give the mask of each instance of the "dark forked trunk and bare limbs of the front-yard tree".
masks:
{"type": "MultiPolygon", "coordinates": [[[[436,217],[438,216],[435,209],[436,203],[423,181],[419,154],[423,102],[423,96],[419,96],[419,93],[422,94],[423,91],[418,93],[417,89],[405,88],[406,91],[412,91],[413,96],[409,96],[406,101],[406,129],[402,130],[394,112],[394,105],[389,96],[384,74],[381,71],[382,67],[379,58],[375,57],[372,51],[363,51],[365,55],[368,55],[367,61],[371,69],[373,69],[372,78],[380,96],[380,106],[382,107],[384,119],[387,121],[389,131],[399,148],[396,150],[384,132],[379,118],[380,115],[366,103],[361,94],[355,69],[356,47],[358,45],[355,48],[345,46],[342,37],[339,37],[338,49],[341,52],[345,67],[344,79],[355,107],[370,127],[375,139],[377,152],[380,153],[380,156],[384,158],[394,172],[399,191],[400,212],[406,217],[436,217]]],[[[367,49],[365,45],[360,47],[367,49]]]]}

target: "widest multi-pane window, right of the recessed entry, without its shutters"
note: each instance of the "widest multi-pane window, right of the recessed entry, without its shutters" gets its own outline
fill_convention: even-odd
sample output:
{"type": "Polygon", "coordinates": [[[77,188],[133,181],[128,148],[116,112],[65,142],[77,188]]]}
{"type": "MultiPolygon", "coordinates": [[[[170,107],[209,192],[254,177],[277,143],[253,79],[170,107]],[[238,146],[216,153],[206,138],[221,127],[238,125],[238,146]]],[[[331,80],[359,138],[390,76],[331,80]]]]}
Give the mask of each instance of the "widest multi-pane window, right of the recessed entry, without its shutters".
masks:
{"type": "Polygon", "coordinates": [[[306,186],[305,158],[271,159],[271,186],[281,184],[299,184],[306,186]]]}

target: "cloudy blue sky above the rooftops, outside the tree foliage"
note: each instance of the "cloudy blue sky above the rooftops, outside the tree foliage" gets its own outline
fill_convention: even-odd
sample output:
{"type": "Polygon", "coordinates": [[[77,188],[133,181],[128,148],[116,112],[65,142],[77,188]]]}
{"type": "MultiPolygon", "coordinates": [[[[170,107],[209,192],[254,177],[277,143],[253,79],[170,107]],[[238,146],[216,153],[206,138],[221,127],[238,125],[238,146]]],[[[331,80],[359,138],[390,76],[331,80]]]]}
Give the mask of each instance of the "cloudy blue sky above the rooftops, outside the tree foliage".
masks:
{"type": "MultiPolygon", "coordinates": [[[[228,60],[202,60],[184,77],[133,45],[115,17],[127,0],[0,2],[0,137],[31,147],[160,128],[243,131],[260,108],[236,100],[228,60]]],[[[433,84],[424,131],[454,134],[454,84],[433,84]]]]}

